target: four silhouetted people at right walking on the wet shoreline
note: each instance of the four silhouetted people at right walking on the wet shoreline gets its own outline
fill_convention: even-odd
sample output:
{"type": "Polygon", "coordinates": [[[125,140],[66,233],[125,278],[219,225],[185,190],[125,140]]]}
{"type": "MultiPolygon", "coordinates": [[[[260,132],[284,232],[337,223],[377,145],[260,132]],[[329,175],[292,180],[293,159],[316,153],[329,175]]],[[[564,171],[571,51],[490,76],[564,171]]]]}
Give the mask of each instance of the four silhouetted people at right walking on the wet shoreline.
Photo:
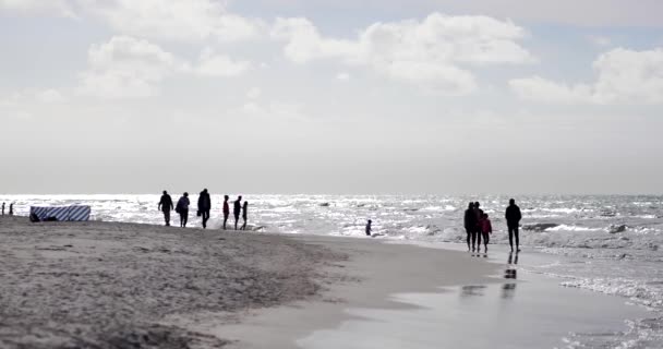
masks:
{"type": "MultiPolygon", "coordinates": [[[[504,215],[509,232],[509,245],[514,252],[514,237],[516,237],[516,252],[520,252],[520,241],[518,228],[522,215],[520,207],[516,205],[514,198],[509,200],[509,206],[504,215]]],[[[479,202],[470,203],[465,212],[465,230],[467,232],[468,251],[481,251],[481,239],[483,238],[484,253],[489,251],[490,234],[493,233],[493,226],[489,215],[481,209],[479,202]],[[471,245],[470,245],[471,242],[471,245]]]]}

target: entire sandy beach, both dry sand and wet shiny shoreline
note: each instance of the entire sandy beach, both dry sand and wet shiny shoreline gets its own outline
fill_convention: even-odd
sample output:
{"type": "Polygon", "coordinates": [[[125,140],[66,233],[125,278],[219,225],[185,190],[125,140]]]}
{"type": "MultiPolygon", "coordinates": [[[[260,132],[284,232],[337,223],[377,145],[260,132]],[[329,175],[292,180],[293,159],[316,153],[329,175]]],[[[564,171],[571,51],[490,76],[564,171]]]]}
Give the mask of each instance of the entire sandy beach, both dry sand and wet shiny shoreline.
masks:
{"type": "Polygon", "coordinates": [[[643,312],[493,250],[2,217],[0,347],[555,348],[643,312]]]}

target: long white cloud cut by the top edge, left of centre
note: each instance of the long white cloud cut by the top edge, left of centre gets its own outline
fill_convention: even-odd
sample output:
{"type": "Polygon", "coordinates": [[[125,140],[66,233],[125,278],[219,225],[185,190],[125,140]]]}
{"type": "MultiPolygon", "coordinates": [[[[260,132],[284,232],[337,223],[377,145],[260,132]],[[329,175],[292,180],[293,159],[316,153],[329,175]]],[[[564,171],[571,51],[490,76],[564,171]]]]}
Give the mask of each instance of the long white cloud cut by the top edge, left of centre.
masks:
{"type": "Polygon", "coordinates": [[[254,37],[264,26],[214,0],[87,0],[87,8],[118,33],[154,39],[232,41],[254,37]]]}

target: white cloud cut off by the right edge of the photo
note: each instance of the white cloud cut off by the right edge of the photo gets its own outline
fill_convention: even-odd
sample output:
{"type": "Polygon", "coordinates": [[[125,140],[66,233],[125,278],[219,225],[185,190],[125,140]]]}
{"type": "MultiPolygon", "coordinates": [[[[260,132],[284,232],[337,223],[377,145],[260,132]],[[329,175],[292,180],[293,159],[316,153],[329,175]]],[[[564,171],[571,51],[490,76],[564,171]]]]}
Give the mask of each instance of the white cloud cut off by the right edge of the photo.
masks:
{"type": "Polygon", "coordinates": [[[591,84],[557,83],[541,76],[515,79],[510,88],[528,100],[562,104],[663,104],[663,49],[617,48],[592,64],[591,84]]]}

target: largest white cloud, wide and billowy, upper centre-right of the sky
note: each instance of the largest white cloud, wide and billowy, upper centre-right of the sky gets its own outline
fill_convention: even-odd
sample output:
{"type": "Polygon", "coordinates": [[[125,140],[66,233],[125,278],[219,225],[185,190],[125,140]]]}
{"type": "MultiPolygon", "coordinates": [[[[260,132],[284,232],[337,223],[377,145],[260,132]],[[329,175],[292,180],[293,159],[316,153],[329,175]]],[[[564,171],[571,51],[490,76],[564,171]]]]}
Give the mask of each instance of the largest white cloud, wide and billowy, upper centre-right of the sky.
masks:
{"type": "Polygon", "coordinates": [[[306,19],[277,19],[272,36],[286,41],[284,55],[294,63],[339,60],[446,95],[477,88],[472,73],[461,67],[534,61],[516,43],[525,29],[487,16],[433,13],[423,21],[375,23],[353,39],[325,37],[306,19]]]}

